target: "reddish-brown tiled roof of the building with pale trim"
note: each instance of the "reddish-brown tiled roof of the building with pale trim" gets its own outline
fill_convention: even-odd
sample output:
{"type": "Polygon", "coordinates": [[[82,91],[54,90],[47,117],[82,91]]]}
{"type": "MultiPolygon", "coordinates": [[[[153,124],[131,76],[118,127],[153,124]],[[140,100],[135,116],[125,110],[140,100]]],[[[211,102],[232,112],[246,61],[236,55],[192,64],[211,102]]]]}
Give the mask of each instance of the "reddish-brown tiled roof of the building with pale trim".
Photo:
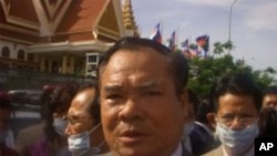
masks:
{"type": "MultiPolygon", "coordinates": [[[[50,3],[55,3],[53,0],[49,0],[50,3]]],[[[113,2],[112,0],[72,0],[66,12],[64,13],[61,22],[54,32],[54,35],[51,37],[52,42],[63,42],[63,41],[88,41],[93,40],[93,25],[98,22],[96,20],[101,18],[101,12],[104,11],[107,2],[113,2]]],[[[4,0],[6,7],[10,6],[9,15],[17,19],[23,19],[24,21],[30,21],[30,24],[38,23],[40,24],[38,14],[34,9],[33,0],[4,0]]],[[[64,3],[64,2],[63,2],[64,3]]],[[[63,6],[63,3],[61,6],[63,6]]],[[[2,3],[3,4],[3,3],[2,3]]],[[[47,13],[49,20],[50,13],[49,10],[45,10],[45,2],[41,0],[43,10],[47,13]]],[[[55,13],[52,15],[53,19],[57,18],[57,14],[62,9],[59,7],[55,13]]],[[[39,37],[38,30],[33,28],[27,28],[25,25],[19,25],[18,23],[7,22],[2,6],[0,4],[0,23],[6,25],[18,27],[21,30],[25,29],[33,32],[33,34],[24,33],[22,31],[6,30],[0,28],[1,35],[9,37],[12,39],[24,40],[33,43],[43,43],[49,39],[39,37]],[[3,31],[6,33],[3,33],[3,31]],[[38,33],[38,35],[35,34],[38,33]],[[44,41],[45,40],[45,41],[44,41]]],[[[29,25],[30,25],[29,24],[29,25]]]]}

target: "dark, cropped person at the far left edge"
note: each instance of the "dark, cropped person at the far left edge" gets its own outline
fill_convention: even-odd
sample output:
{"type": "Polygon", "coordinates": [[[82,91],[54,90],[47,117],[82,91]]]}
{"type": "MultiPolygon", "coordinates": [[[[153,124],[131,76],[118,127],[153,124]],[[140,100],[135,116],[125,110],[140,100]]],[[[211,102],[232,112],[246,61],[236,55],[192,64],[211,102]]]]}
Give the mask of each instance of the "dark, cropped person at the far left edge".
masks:
{"type": "Polygon", "coordinates": [[[11,112],[10,96],[4,92],[0,92],[0,156],[19,156],[14,149],[6,145],[11,112]]]}

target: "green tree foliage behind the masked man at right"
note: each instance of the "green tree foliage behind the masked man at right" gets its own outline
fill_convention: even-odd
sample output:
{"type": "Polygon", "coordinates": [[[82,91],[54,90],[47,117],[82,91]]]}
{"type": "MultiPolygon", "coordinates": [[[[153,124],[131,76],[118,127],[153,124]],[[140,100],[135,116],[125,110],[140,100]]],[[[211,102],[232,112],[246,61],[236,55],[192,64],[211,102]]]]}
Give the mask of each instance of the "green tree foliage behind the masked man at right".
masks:
{"type": "Polygon", "coordinates": [[[213,56],[193,58],[188,61],[189,80],[188,87],[197,93],[201,97],[209,95],[212,85],[224,75],[233,75],[235,73],[248,73],[253,75],[257,84],[264,89],[271,84],[275,80],[273,74],[275,70],[267,67],[264,71],[253,70],[252,66],[245,64],[244,60],[234,60],[226,50],[232,50],[232,42],[216,42],[213,56]],[[225,54],[224,54],[225,53],[225,54]]]}

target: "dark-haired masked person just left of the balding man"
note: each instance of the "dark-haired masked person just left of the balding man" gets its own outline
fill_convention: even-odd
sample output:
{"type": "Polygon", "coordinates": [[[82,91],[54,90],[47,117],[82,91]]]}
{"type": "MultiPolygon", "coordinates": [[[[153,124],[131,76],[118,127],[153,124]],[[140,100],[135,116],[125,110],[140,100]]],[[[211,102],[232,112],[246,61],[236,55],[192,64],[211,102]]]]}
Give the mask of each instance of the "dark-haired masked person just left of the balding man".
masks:
{"type": "Polygon", "coordinates": [[[70,103],[78,90],[75,83],[64,83],[49,94],[45,100],[43,136],[30,149],[30,156],[71,156],[66,135],[66,115],[70,103]]]}

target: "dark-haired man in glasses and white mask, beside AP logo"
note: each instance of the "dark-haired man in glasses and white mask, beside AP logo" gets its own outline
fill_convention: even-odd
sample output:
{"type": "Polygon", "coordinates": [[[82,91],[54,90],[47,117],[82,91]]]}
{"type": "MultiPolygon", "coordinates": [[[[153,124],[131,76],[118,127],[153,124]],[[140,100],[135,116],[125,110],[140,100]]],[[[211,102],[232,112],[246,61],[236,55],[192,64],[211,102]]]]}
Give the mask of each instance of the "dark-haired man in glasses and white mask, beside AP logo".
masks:
{"type": "Polygon", "coordinates": [[[254,156],[261,92],[253,77],[247,74],[222,77],[214,85],[212,97],[215,134],[222,146],[204,156],[254,156]]]}

